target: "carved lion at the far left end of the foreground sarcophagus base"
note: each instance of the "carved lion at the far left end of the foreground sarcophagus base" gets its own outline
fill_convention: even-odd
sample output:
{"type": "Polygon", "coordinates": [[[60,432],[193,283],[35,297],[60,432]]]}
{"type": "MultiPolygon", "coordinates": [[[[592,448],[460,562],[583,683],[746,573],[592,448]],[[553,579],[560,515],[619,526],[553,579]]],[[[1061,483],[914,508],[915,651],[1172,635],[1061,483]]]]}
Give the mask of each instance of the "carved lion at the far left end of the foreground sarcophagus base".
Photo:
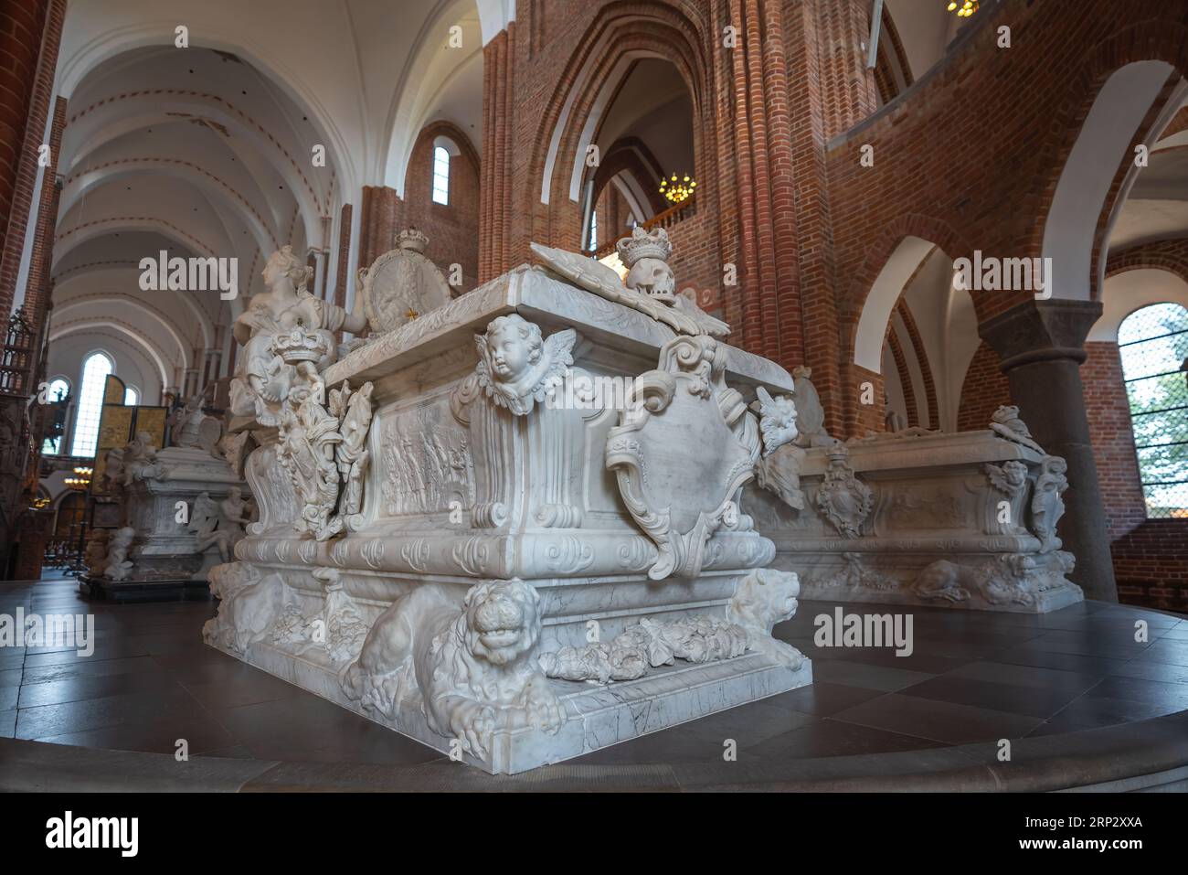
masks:
{"type": "Polygon", "coordinates": [[[285,587],[280,577],[261,575],[247,562],[228,562],[211,568],[209,580],[210,593],[222,604],[219,616],[202,627],[202,640],[236,653],[263,641],[284,610],[285,587]]]}

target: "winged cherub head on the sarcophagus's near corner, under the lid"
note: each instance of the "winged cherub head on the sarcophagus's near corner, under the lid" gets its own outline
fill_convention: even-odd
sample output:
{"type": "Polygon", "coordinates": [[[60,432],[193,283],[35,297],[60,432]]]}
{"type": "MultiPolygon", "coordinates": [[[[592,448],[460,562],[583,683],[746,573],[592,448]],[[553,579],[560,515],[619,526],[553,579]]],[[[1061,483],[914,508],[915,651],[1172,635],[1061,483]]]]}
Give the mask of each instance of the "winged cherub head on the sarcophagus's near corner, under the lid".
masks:
{"type": "Polygon", "coordinates": [[[486,334],[474,336],[479,348],[474,372],[478,388],[497,407],[525,416],[564,380],[565,370],[574,364],[576,340],[573,328],[545,339],[539,326],[516,313],[499,316],[487,326],[486,334]]]}

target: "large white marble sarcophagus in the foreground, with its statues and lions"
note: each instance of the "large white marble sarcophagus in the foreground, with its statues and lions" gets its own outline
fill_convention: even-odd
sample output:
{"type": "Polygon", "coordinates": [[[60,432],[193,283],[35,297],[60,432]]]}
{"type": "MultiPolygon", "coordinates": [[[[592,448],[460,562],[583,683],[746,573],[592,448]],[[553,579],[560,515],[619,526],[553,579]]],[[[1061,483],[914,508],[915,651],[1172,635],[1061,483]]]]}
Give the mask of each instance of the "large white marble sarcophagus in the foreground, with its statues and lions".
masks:
{"type": "Polygon", "coordinates": [[[270,259],[232,392],[259,521],[207,641],[494,773],[811,682],[740,506],[792,378],[674,292],[663,231],[625,279],[535,247],[454,300],[423,248],[361,273],[341,357],[355,316],[270,259]]]}

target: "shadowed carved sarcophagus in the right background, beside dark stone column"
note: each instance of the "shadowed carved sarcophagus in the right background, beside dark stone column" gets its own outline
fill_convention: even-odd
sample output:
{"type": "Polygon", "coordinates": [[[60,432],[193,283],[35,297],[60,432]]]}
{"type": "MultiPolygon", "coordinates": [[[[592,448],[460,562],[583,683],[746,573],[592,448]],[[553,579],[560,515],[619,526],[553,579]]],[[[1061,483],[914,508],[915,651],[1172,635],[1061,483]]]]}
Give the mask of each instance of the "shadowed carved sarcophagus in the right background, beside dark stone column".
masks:
{"type": "Polygon", "coordinates": [[[783,447],[744,508],[805,598],[1025,612],[1080,602],[1056,536],[1063,460],[994,424],[783,447]]]}

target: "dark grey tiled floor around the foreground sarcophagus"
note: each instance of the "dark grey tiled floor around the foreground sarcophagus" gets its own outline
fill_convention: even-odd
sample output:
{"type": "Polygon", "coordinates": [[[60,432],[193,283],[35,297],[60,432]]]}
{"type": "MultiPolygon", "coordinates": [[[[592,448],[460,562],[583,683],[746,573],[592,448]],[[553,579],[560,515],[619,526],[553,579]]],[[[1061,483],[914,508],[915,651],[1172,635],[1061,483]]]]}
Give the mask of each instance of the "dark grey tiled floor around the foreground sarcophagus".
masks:
{"type": "MultiPolygon", "coordinates": [[[[0,613],[95,615],[95,651],[0,648],[0,736],[307,762],[411,764],[440,754],[202,643],[213,603],[88,603],[72,580],[0,584],[0,613]]],[[[1188,709],[1188,621],[1097,603],[1043,617],[912,609],[915,653],[819,648],[803,602],[777,635],[810,687],[589,754],[587,763],[763,762],[1053,735],[1188,709]],[[1136,642],[1136,621],[1148,641],[1136,642]]],[[[899,611],[879,605],[849,612],[899,611]]]]}

